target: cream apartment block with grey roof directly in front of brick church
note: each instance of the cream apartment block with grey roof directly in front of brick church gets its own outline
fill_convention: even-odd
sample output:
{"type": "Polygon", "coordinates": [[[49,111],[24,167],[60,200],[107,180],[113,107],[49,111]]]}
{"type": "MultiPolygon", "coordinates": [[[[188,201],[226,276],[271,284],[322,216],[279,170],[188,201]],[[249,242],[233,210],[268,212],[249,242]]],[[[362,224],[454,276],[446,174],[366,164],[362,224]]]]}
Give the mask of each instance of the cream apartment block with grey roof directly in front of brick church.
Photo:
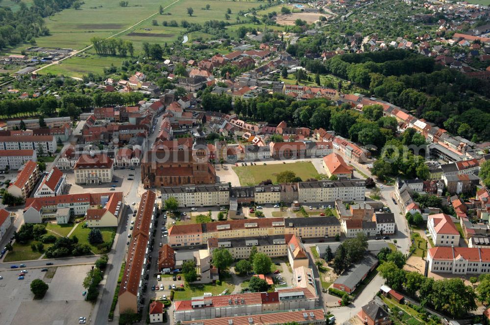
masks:
{"type": "Polygon", "coordinates": [[[223,184],[162,187],[162,206],[173,197],[180,208],[226,206],[230,204],[230,188],[223,184]]]}

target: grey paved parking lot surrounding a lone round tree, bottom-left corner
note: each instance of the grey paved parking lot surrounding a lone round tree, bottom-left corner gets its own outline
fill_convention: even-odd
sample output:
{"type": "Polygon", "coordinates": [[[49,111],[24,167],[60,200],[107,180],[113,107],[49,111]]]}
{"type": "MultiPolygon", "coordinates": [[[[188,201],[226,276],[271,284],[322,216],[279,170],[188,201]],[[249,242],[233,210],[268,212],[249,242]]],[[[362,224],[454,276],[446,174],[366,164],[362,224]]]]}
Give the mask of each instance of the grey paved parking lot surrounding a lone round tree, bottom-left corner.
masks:
{"type": "Polygon", "coordinates": [[[52,278],[41,268],[27,269],[23,280],[17,279],[21,269],[1,272],[0,325],[65,325],[78,324],[78,317],[89,320],[93,305],[82,296],[82,282],[89,269],[90,265],[58,267],[52,278]],[[34,279],[49,285],[43,299],[34,300],[30,291],[34,279]]]}

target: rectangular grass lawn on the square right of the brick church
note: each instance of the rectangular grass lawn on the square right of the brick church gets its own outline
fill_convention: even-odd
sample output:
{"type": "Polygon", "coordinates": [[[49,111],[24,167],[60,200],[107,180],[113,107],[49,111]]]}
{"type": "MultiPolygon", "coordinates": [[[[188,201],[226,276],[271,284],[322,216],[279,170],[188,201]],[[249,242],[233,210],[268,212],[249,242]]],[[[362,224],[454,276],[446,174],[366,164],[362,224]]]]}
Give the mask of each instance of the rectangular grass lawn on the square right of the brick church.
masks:
{"type": "Polygon", "coordinates": [[[238,166],[232,167],[237,173],[242,186],[257,185],[264,180],[276,181],[278,173],[291,170],[296,173],[296,176],[303,180],[315,178],[318,175],[313,163],[298,162],[298,163],[274,163],[269,165],[254,165],[254,166],[238,166]]]}

